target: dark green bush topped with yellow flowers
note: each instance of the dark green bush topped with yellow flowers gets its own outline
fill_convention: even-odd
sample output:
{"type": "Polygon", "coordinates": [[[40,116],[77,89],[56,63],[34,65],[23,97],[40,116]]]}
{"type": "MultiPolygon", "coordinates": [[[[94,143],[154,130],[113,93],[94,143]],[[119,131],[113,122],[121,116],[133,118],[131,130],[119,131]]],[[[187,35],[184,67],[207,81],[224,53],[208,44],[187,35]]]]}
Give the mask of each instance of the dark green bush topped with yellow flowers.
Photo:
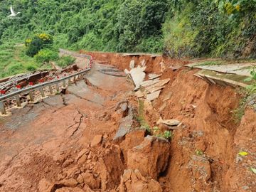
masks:
{"type": "Polygon", "coordinates": [[[25,46],[27,48],[26,55],[33,57],[39,50],[53,46],[53,36],[46,33],[37,34],[33,38],[27,38],[25,46]]]}

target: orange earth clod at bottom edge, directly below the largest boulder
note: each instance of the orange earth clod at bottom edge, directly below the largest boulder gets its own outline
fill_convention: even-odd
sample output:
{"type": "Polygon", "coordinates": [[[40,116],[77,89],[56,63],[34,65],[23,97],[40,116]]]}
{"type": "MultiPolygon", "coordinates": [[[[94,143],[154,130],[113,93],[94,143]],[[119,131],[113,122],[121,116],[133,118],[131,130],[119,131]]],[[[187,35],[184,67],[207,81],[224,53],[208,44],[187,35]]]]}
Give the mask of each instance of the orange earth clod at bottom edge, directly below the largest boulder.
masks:
{"type": "Polygon", "coordinates": [[[139,170],[124,170],[119,185],[120,192],[161,192],[163,191],[159,182],[152,178],[145,178],[139,170]]]}

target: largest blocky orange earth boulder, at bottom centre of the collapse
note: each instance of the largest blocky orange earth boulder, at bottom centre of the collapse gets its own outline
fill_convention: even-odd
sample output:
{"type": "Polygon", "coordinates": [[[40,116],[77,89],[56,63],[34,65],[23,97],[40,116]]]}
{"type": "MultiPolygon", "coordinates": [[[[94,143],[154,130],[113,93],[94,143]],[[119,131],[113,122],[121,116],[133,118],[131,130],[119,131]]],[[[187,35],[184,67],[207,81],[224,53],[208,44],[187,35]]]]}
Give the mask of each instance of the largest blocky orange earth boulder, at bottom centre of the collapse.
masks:
{"type": "Polygon", "coordinates": [[[139,169],[143,176],[157,179],[169,164],[169,150],[166,139],[147,136],[142,144],[128,151],[127,168],[139,169]]]}

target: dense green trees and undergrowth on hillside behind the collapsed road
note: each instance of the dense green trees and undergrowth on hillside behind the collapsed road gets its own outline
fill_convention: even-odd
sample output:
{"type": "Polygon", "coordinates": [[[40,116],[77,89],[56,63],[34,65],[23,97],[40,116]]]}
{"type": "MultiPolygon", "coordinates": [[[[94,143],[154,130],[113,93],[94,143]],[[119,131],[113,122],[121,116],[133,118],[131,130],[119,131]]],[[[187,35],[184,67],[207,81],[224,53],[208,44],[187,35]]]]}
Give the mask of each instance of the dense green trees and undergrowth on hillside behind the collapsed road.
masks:
{"type": "MultiPolygon", "coordinates": [[[[61,47],[164,51],[173,57],[256,58],[255,9],[256,0],[3,0],[1,74],[26,69],[21,67],[25,64],[9,58],[15,56],[16,48],[5,48],[6,42],[14,46],[40,33],[53,37],[51,49],[55,51],[61,47]],[[16,18],[7,17],[11,5],[21,12],[16,18]]],[[[33,60],[33,68],[38,68],[34,58],[23,59],[33,60]]]]}

